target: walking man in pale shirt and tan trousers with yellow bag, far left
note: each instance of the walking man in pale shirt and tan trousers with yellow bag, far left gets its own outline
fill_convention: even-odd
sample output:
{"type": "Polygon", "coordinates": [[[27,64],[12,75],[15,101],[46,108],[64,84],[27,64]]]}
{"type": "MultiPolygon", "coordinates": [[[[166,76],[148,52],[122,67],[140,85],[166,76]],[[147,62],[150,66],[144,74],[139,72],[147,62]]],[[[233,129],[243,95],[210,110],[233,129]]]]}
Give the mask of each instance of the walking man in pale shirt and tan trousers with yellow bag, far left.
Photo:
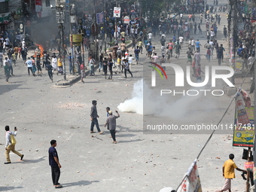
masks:
{"type": "Polygon", "coordinates": [[[17,136],[17,127],[14,127],[14,133],[10,131],[10,127],[7,125],[5,126],[5,157],[6,161],[5,164],[11,163],[10,160],[10,152],[12,151],[14,154],[20,156],[20,160],[23,160],[24,154],[20,154],[18,151],[15,151],[16,139],[14,136],[17,136]]]}

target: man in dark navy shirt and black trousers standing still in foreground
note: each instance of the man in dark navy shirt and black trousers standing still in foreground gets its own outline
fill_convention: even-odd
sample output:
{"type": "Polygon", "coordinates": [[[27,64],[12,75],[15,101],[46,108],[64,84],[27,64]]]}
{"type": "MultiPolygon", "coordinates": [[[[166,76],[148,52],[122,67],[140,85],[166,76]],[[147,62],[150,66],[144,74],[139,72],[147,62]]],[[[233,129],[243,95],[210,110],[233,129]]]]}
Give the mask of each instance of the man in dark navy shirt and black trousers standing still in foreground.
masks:
{"type": "Polygon", "coordinates": [[[59,157],[58,153],[56,151],[56,140],[51,140],[50,141],[50,148],[49,148],[49,164],[51,167],[51,177],[53,179],[53,186],[55,188],[61,188],[62,185],[59,184],[59,175],[60,175],[60,169],[61,165],[59,164],[59,157]]]}

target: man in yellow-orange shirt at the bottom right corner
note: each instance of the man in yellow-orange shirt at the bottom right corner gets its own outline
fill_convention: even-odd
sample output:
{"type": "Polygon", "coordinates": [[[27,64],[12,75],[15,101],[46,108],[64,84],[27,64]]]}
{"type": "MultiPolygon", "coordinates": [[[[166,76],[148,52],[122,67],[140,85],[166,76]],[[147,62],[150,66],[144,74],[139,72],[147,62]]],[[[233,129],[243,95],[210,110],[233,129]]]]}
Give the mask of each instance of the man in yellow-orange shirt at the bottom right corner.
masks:
{"type": "Polygon", "coordinates": [[[229,157],[230,157],[230,159],[226,160],[224,165],[222,166],[222,172],[223,172],[223,176],[225,178],[225,183],[224,183],[224,186],[222,187],[222,189],[218,190],[218,192],[223,192],[226,190],[231,192],[231,179],[236,178],[235,169],[238,170],[239,172],[246,173],[245,170],[239,169],[236,166],[236,163],[233,162],[233,158],[235,157],[234,154],[230,154],[229,157]]]}

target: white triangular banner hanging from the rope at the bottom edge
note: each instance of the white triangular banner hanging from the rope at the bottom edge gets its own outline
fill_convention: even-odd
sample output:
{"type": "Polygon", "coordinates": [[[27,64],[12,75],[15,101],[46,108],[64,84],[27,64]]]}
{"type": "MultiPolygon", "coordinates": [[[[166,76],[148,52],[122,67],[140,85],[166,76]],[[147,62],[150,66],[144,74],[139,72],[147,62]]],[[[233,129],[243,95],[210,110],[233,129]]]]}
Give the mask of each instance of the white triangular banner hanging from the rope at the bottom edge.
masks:
{"type": "Polygon", "coordinates": [[[200,177],[197,169],[197,159],[191,164],[187,170],[184,181],[178,187],[177,192],[202,192],[200,177]]]}

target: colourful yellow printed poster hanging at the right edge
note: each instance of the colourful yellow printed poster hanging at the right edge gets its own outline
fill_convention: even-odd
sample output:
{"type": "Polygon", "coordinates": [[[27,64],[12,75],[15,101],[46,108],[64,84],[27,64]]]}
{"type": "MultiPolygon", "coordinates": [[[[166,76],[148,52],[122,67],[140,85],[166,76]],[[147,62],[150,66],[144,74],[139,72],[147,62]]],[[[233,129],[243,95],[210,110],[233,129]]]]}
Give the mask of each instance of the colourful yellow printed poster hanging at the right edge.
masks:
{"type": "Polygon", "coordinates": [[[237,114],[235,114],[235,124],[233,126],[233,146],[253,148],[254,141],[254,107],[246,107],[249,123],[239,124],[237,114]]]}

